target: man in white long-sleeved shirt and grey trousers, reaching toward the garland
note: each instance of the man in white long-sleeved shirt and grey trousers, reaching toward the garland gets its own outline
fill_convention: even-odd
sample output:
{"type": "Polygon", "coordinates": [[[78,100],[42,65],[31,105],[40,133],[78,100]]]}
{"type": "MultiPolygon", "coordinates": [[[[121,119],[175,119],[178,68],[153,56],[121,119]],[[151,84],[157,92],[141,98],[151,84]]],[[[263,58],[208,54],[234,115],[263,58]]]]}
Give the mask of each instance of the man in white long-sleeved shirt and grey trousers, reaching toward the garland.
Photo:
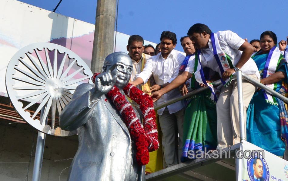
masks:
{"type": "MultiPolygon", "coordinates": [[[[177,43],[176,34],[170,31],[163,31],[160,40],[161,53],[159,53],[157,56],[152,56],[147,60],[143,71],[137,75],[137,79],[135,81],[131,82],[133,85],[137,86],[139,84],[146,83],[149,77],[153,75],[156,85],[152,86],[151,90],[159,90],[169,84],[169,82],[173,80],[173,77],[178,75],[179,68],[185,56],[183,56],[181,53],[177,53],[174,50],[177,43]]],[[[167,102],[169,99],[180,96],[181,94],[176,88],[161,97],[156,102],[156,105],[160,105],[167,102]]],[[[183,101],[179,101],[157,110],[160,127],[163,133],[162,145],[165,167],[178,164],[180,160],[183,143],[183,107],[183,101]],[[177,127],[178,130],[175,130],[177,127]],[[177,151],[178,145],[179,149],[177,151]]]]}

